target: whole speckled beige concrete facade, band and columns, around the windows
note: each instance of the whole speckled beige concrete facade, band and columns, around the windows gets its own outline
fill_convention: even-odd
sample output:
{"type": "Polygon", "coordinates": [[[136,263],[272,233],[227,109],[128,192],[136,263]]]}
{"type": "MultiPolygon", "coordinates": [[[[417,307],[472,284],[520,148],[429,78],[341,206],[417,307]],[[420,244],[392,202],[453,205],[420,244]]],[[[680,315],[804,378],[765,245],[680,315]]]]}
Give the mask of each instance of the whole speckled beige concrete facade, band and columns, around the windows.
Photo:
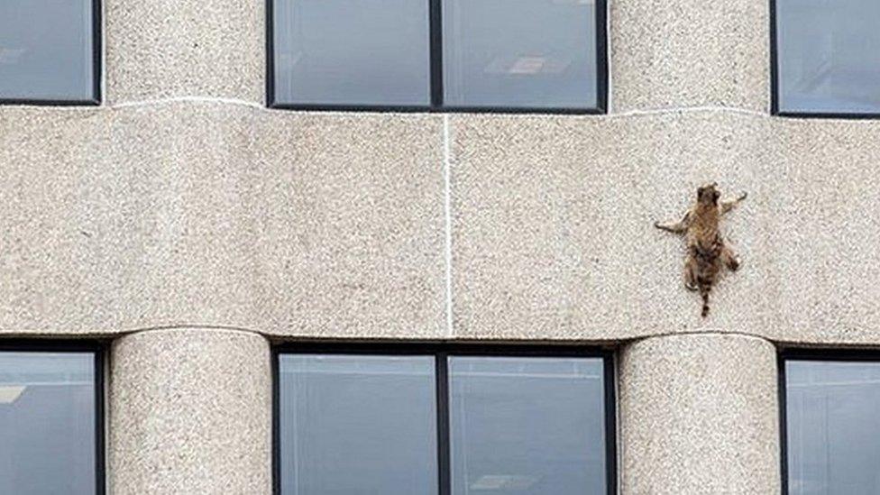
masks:
{"type": "Polygon", "coordinates": [[[116,492],[269,490],[269,337],[615,346],[624,493],[765,492],[774,344],[880,344],[880,124],[768,115],[764,0],[610,0],[597,116],[270,110],[261,1],[104,8],[103,105],[0,107],[0,334],[117,339],[116,492]],[[708,180],[749,197],[702,319],[652,224],[708,180]],[[173,360],[251,390],[256,422],[173,360]],[[193,419],[166,380],[206,452],[174,441],[193,419]],[[140,452],[162,438],[179,460],[140,452]]]}

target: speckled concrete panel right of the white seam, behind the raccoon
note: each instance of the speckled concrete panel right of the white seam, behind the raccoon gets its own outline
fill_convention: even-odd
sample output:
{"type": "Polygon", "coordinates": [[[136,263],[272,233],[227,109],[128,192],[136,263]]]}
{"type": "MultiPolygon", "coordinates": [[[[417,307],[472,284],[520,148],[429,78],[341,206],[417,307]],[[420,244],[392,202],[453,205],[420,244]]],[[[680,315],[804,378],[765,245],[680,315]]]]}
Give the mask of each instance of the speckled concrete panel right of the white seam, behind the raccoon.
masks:
{"type": "Polygon", "coordinates": [[[742,332],[880,343],[880,124],[719,111],[452,117],[456,336],[618,340],[742,332]],[[749,193],[743,259],[711,313],[682,283],[697,185],[749,193]]]}

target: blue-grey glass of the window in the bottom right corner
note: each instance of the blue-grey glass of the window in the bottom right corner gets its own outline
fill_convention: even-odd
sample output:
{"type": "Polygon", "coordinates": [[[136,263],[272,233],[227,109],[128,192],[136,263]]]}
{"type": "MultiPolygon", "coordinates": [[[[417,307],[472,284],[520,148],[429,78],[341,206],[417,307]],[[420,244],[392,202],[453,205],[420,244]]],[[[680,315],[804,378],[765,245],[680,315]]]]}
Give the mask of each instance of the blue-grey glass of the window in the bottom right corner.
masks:
{"type": "Polygon", "coordinates": [[[880,362],[785,362],[788,491],[880,493],[880,362]]]}

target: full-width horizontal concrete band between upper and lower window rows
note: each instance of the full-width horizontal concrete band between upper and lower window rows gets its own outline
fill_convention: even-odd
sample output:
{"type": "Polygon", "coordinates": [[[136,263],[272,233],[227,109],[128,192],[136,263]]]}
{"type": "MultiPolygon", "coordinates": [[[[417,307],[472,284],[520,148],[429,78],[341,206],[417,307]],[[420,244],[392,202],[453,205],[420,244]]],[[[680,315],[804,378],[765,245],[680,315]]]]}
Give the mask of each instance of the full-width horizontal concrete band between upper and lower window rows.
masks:
{"type": "Polygon", "coordinates": [[[0,107],[0,333],[880,344],[878,137],[723,108],[0,107]],[[651,225],[706,180],[749,197],[724,225],[743,269],[702,319],[651,225]]]}

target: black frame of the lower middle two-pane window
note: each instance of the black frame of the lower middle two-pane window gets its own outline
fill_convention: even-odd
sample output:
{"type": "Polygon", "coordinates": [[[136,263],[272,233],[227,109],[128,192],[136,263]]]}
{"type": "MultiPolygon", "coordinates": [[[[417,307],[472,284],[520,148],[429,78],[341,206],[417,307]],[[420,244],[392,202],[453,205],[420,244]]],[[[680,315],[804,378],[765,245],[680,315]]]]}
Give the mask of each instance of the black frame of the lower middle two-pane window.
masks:
{"type": "Polygon", "coordinates": [[[601,358],[605,406],[605,479],[607,495],[615,495],[617,468],[617,382],[614,351],[580,345],[470,343],[342,343],[302,342],[273,345],[272,371],[272,493],[281,495],[279,368],[282,354],[420,355],[435,363],[438,495],[452,493],[449,427],[449,356],[601,358]]]}

